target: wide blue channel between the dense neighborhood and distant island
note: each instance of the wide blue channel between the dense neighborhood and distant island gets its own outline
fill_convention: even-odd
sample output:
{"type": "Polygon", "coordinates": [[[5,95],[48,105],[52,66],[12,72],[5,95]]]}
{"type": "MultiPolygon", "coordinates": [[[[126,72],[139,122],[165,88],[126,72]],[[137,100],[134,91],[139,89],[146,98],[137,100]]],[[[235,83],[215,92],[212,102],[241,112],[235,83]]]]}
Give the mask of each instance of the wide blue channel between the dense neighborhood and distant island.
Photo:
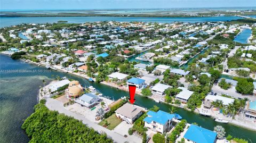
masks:
{"type": "Polygon", "coordinates": [[[59,20],[68,21],[68,23],[84,23],[94,21],[119,21],[119,22],[130,22],[130,21],[143,21],[143,22],[160,22],[160,23],[171,23],[175,21],[180,22],[217,22],[217,21],[230,21],[241,19],[236,16],[213,16],[213,17],[194,17],[194,18],[137,18],[137,17],[109,17],[109,16],[87,16],[87,17],[0,17],[0,27],[9,27],[21,23],[53,23],[59,20]]]}

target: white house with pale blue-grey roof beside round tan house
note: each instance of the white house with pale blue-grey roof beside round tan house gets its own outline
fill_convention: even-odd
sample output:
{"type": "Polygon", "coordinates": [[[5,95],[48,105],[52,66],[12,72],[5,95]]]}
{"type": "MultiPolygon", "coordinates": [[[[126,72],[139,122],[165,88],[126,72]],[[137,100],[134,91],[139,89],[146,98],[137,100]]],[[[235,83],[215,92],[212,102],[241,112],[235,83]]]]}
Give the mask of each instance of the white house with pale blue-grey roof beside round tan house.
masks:
{"type": "Polygon", "coordinates": [[[76,103],[88,108],[94,107],[95,105],[99,104],[100,101],[101,99],[98,96],[91,93],[84,94],[75,100],[76,103]]]}

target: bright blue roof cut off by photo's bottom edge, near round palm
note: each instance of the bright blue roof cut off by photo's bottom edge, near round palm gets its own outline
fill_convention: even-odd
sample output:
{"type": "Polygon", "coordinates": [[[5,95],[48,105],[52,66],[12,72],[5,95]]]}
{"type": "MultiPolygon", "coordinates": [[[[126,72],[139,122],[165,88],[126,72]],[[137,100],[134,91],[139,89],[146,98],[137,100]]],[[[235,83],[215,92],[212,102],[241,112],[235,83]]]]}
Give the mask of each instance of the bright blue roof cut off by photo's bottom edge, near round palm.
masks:
{"type": "Polygon", "coordinates": [[[213,143],[217,137],[217,133],[207,130],[197,125],[191,124],[185,133],[184,138],[196,143],[213,143]]]}

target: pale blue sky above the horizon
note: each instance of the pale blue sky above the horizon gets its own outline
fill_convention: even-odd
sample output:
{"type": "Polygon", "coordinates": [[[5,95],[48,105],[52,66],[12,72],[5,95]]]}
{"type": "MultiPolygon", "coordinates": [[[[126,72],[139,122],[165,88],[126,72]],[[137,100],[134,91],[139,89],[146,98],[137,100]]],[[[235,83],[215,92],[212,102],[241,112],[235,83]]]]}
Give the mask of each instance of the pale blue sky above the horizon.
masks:
{"type": "Polygon", "coordinates": [[[0,0],[0,10],[256,7],[256,0],[0,0]]]}

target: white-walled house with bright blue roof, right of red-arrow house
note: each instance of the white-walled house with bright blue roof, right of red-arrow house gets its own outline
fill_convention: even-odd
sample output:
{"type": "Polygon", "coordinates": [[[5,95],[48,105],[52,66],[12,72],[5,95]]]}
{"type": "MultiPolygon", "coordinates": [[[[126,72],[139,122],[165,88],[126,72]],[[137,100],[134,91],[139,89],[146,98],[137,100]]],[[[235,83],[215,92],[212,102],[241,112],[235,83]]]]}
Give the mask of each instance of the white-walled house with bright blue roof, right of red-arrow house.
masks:
{"type": "Polygon", "coordinates": [[[143,120],[145,127],[155,132],[169,132],[172,129],[172,119],[174,114],[170,114],[164,111],[149,111],[147,117],[143,120]]]}

